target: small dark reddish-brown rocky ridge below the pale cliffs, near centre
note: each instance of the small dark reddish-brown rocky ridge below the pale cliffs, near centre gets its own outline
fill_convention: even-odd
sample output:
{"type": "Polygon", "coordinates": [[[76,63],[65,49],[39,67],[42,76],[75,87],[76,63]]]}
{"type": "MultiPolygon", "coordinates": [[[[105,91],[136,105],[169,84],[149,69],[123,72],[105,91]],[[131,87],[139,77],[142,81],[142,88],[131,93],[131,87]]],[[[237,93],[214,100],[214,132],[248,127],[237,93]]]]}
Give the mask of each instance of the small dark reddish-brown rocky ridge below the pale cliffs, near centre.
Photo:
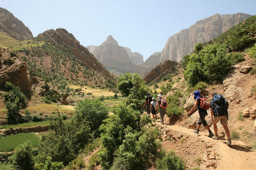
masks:
{"type": "Polygon", "coordinates": [[[160,80],[162,77],[167,75],[170,72],[175,71],[178,62],[167,60],[163,63],[157,65],[154,69],[152,69],[145,77],[144,81],[146,83],[155,83],[156,81],[160,80]]]}

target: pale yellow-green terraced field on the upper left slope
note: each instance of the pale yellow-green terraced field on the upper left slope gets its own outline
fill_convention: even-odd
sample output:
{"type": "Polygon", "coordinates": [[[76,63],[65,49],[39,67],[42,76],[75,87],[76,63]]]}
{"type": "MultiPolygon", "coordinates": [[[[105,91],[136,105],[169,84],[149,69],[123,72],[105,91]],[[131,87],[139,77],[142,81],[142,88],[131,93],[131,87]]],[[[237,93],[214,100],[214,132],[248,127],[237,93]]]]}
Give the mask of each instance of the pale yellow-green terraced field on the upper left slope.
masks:
{"type": "Polygon", "coordinates": [[[24,47],[34,47],[34,46],[41,46],[45,44],[45,42],[36,42],[34,40],[25,40],[19,41],[14,39],[6,34],[0,33],[0,47],[5,49],[13,49],[13,50],[20,50],[24,47]]]}

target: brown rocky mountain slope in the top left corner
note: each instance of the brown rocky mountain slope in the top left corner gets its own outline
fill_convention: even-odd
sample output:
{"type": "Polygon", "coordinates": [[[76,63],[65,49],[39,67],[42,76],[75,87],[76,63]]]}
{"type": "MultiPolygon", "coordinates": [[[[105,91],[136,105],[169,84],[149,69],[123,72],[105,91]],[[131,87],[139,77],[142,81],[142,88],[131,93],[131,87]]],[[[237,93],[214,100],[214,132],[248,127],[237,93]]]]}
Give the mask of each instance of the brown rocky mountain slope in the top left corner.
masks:
{"type": "Polygon", "coordinates": [[[22,21],[18,20],[8,10],[0,7],[0,33],[1,32],[18,40],[33,38],[32,32],[22,21]]]}

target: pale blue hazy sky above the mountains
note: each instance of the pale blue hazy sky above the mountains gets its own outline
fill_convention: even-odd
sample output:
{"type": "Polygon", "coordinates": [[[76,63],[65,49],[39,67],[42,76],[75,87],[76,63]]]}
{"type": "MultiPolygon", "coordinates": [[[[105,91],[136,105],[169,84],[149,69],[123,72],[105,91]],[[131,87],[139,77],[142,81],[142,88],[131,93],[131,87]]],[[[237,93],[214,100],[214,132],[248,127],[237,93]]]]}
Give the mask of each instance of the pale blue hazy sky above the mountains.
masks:
{"type": "Polygon", "coordinates": [[[65,28],[83,46],[112,35],[146,60],[168,38],[216,13],[256,14],[256,0],[0,0],[33,33],[65,28]]]}

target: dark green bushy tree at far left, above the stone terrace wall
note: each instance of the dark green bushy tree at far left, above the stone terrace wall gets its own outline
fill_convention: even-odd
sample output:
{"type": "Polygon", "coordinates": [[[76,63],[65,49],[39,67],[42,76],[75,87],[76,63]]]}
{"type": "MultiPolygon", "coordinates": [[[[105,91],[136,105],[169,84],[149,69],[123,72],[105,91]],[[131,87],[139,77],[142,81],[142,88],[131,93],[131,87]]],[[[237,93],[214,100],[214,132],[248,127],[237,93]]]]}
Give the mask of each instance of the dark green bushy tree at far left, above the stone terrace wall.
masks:
{"type": "Polygon", "coordinates": [[[21,117],[19,114],[21,109],[19,98],[16,97],[14,102],[6,102],[5,107],[7,109],[7,121],[9,123],[17,123],[21,117]]]}

